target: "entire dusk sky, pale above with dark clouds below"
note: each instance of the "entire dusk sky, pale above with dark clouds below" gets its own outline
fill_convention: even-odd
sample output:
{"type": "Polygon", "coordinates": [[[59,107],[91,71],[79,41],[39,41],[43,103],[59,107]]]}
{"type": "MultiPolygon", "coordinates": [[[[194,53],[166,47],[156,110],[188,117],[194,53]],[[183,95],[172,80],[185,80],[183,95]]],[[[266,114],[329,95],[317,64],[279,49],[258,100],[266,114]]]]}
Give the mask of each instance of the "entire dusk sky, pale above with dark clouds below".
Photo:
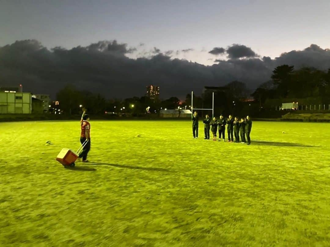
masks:
{"type": "Polygon", "coordinates": [[[0,0],[0,85],[183,98],[283,63],[330,67],[329,1],[0,0]]]}

